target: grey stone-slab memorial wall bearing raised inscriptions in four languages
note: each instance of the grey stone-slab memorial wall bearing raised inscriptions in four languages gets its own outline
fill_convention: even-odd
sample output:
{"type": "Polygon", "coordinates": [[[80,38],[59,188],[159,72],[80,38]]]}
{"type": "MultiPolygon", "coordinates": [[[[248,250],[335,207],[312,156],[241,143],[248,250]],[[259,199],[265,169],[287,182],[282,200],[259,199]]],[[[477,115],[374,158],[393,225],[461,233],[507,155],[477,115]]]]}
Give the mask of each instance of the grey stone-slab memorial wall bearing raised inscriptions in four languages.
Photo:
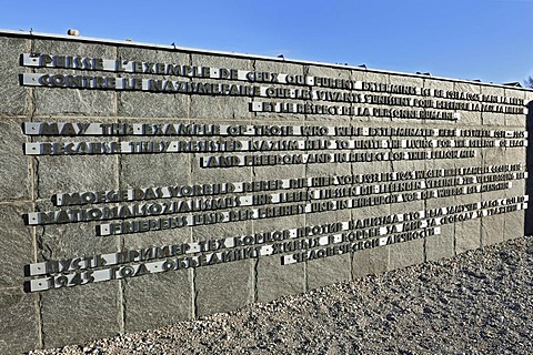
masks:
{"type": "Polygon", "coordinates": [[[0,353],[524,235],[531,90],[27,32],[0,45],[0,353]]]}

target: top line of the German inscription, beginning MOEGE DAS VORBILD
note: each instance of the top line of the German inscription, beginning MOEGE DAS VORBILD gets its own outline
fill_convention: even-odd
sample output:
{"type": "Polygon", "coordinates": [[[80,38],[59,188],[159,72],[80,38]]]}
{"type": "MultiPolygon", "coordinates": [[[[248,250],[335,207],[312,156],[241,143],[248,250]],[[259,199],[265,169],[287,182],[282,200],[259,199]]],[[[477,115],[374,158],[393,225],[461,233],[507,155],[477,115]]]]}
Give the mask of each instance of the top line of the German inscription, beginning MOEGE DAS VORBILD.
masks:
{"type": "MultiPolygon", "coordinates": [[[[399,192],[408,190],[445,187],[472,183],[493,183],[500,181],[527,179],[527,172],[522,172],[522,164],[503,164],[487,166],[464,166],[456,169],[433,169],[380,172],[354,175],[328,175],[300,179],[260,180],[250,182],[223,182],[197,185],[173,185],[138,187],[128,190],[86,191],[60,193],[52,195],[57,206],[86,205],[97,203],[115,203],[128,201],[150,201],[175,197],[219,196],[234,193],[258,193],[276,190],[321,187],[320,194],[342,196],[348,185],[355,193],[369,194],[399,192]],[[375,183],[380,184],[375,184],[375,183]],[[373,183],[373,184],[372,184],[373,183]],[[363,186],[353,186],[361,184],[363,186]],[[368,185],[372,184],[372,185],[368,185]],[[326,189],[334,186],[333,189],[326,189]],[[364,187],[364,189],[362,189],[364,187]]],[[[351,190],[352,191],[352,190],[351,190]]],[[[288,200],[289,197],[285,197],[288,200]]]]}

